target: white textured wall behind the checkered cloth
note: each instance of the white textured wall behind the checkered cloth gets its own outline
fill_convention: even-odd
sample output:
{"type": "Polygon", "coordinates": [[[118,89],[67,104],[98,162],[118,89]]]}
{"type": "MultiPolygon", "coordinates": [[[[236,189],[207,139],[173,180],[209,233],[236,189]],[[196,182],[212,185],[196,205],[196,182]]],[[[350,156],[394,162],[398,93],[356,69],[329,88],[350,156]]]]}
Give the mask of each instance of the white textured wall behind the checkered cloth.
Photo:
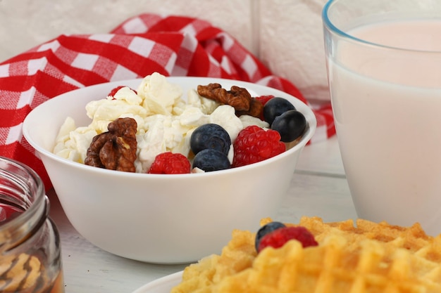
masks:
{"type": "Polygon", "coordinates": [[[108,32],[140,13],[187,15],[232,34],[310,100],[328,100],[326,0],[0,0],[0,62],[60,34],[108,32]]]}

